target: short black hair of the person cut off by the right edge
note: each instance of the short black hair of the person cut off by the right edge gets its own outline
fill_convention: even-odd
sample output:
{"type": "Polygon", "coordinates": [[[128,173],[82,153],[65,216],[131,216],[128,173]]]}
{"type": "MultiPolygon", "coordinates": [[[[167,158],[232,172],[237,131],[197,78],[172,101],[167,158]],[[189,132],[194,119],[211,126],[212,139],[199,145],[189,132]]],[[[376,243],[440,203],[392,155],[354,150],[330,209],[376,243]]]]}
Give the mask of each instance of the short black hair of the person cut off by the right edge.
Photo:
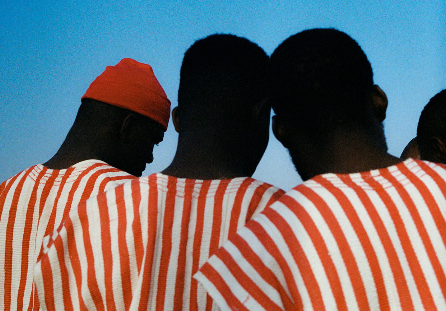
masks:
{"type": "Polygon", "coordinates": [[[434,136],[446,140],[446,89],[432,97],[421,112],[417,127],[420,153],[434,136]]]}

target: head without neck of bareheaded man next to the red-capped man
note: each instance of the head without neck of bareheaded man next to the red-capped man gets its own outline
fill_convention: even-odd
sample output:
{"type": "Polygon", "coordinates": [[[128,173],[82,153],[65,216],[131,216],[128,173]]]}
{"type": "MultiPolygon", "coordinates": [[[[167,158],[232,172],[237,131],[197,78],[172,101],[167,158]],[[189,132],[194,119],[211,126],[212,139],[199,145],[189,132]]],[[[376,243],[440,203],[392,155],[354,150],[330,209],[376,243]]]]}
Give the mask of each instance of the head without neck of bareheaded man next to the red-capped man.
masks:
{"type": "Polygon", "coordinates": [[[232,150],[231,156],[240,156],[251,176],[268,145],[268,60],[255,43],[231,34],[214,34],[190,46],[173,112],[179,141],[186,135],[212,136],[216,145],[232,150]]]}

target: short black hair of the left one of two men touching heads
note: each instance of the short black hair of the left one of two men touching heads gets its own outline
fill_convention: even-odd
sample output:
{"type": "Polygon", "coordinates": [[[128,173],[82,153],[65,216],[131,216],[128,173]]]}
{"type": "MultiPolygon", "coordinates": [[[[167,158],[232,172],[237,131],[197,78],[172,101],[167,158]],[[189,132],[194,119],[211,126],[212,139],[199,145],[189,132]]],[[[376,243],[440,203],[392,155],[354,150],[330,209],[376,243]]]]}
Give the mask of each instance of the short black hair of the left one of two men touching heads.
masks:
{"type": "Polygon", "coordinates": [[[242,125],[267,97],[268,55],[244,37],[213,34],[184,54],[178,89],[180,130],[242,125]]]}

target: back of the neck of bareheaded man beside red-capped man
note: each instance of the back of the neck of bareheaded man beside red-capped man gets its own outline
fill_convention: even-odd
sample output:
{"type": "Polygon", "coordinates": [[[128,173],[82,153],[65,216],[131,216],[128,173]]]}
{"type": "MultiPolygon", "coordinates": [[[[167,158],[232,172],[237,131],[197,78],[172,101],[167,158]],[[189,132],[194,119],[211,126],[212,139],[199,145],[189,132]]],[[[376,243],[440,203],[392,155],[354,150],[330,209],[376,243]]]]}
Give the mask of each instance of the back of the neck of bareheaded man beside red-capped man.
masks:
{"type": "Polygon", "coordinates": [[[172,163],[161,173],[191,179],[244,177],[240,148],[221,142],[212,133],[180,133],[172,163]]]}

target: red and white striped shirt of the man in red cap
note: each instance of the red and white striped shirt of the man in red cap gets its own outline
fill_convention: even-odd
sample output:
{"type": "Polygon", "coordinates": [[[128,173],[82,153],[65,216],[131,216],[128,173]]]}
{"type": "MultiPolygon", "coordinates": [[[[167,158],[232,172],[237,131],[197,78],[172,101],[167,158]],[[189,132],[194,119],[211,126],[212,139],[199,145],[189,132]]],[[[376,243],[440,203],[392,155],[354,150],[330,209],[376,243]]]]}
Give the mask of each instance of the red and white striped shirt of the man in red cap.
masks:
{"type": "Polygon", "coordinates": [[[0,185],[0,309],[38,310],[34,264],[43,237],[58,228],[72,207],[135,176],[99,160],[66,170],[37,164],[0,185]]]}

